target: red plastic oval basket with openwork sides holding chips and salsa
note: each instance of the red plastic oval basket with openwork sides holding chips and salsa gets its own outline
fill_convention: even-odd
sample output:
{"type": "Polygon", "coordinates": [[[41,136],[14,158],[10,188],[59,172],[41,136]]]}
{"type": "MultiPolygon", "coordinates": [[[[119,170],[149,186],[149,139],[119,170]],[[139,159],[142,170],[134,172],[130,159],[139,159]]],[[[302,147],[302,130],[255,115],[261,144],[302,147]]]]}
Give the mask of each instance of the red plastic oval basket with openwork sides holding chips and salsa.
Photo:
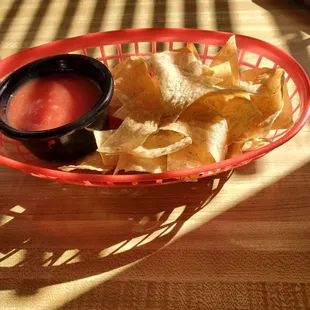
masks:
{"type": "MultiPolygon", "coordinates": [[[[149,55],[195,43],[203,62],[210,61],[216,49],[231,33],[195,29],[128,29],[88,34],[27,49],[0,62],[0,77],[38,58],[80,53],[103,61],[111,67],[132,55],[149,55]]],[[[301,66],[287,53],[266,42],[236,35],[239,62],[243,68],[276,67],[286,71],[295,125],[287,130],[271,132],[270,143],[241,156],[194,169],[158,174],[94,175],[67,173],[52,164],[34,164],[29,152],[17,141],[0,134],[0,164],[24,171],[39,178],[84,186],[130,187],[153,186],[180,182],[184,177],[215,175],[248,164],[293,138],[304,126],[310,113],[310,82],[301,66]]]]}

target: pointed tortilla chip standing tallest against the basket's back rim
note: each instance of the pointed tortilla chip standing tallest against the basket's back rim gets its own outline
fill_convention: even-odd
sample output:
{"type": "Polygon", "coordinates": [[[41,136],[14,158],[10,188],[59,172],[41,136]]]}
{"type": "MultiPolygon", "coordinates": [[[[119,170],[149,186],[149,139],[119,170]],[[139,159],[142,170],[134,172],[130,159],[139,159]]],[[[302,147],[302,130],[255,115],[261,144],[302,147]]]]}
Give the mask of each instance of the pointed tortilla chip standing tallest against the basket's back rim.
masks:
{"type": "Polygon", "coordinates": [[[215,55],[210,67],[213,68],[229,61],[232,73],[232,84],[239,85],[239,61],[235,36],[231,36],[221,50],[215,55]]]}

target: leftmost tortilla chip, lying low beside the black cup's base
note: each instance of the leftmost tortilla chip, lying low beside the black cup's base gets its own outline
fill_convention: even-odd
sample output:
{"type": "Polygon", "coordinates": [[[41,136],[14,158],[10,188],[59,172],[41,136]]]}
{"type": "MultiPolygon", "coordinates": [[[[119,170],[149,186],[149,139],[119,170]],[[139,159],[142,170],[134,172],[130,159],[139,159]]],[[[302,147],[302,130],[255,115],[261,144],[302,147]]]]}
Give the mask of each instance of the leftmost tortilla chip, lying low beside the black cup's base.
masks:
{"type": "Polygon", "coordinates": [[[113,169],[113,167],[105,166],[101,160],[100,154],[94,152],[85,158],[77,161],[75,165],[62,166],[59,170],[70,172],[74,170],[90,170],[106,173],[113,169]]]}

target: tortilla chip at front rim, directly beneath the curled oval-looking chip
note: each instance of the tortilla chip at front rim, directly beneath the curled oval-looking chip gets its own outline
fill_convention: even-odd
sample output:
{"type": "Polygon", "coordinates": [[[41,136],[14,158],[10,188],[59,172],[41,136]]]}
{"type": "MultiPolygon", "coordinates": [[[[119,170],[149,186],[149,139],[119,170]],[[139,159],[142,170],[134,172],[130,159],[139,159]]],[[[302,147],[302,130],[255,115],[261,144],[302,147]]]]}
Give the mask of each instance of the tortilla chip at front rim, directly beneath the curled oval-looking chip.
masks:
{"type": "Polygon", "coordinates": [[[125,172],[165,172],[167,171],[167,156],[143,158],[131,154],[120,154],[114,174],[117,174],[121,170],[124,170],[125,172]]]}

